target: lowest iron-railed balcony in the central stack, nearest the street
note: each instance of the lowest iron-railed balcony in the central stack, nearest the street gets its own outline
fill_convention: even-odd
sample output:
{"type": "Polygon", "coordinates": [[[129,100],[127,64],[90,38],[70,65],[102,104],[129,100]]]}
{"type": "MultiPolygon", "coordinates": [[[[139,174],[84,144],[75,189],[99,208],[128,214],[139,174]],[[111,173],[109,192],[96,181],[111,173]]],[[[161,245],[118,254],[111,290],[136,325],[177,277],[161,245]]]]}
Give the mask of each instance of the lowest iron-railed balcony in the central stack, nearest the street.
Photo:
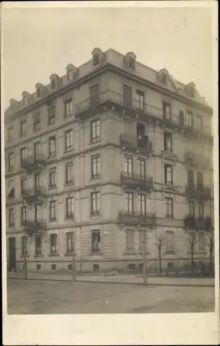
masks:
{"type": "Polygon", "coordinates": [[[125,224],[140,224],[144,226],[154,226],[156,224],[156,214],[140,215],[138,212],[128,212],[120,210],[118,221],[125,224]]]}

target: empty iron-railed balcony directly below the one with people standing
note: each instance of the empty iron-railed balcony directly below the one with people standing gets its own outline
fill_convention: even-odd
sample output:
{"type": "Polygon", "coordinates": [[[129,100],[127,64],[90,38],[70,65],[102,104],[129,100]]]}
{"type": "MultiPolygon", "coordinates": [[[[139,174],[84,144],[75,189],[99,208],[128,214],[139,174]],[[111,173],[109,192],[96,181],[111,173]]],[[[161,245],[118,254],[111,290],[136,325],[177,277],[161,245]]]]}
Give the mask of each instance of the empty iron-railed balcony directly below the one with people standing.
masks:
{"type": "Polygon", "coordinates": [[[152,176],[143,176],[140,174],[134,174],[129,172],[122,172],[121,183],[128,187],[140,188],[141,190],[151,190],[154,186],[152,176]]]}

